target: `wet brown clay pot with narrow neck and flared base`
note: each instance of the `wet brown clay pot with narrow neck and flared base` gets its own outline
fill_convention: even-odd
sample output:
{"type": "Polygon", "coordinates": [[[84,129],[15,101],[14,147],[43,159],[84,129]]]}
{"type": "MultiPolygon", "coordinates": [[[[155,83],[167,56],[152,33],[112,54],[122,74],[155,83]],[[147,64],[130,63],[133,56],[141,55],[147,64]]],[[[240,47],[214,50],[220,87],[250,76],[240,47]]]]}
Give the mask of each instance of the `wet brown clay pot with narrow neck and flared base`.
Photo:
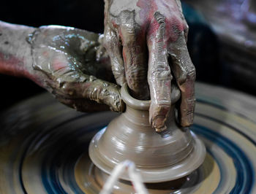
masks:
{"type": "MultiPolygon", "coordinates": [[[[195,171],[206,155],[206,149],[190,130],[178,128],[175,104],[180,91],[172,88],[167,130],[156,133],[148,121],[150,101],[139,101],[129,95],[127,85],[121,88],[127,109],[99,131],[91,140],[89,155],[93,163],[110,174],[116,164],[132,160],[143,182],[166,182],[195,171]]],[[[129,180],[127,174],[121,179],[129,180]]]]}

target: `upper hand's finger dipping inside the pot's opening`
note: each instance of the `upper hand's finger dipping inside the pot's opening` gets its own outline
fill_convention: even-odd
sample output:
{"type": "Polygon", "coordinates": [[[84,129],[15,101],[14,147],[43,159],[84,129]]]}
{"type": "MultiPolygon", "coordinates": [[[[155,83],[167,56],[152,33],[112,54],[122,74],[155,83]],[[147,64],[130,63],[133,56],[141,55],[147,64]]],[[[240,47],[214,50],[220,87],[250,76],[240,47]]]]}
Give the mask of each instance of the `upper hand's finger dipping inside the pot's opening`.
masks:
{"type": "MultiPolygon", "coordinates": [[[[132,13],[129,13],[132,14],[132,13]]],[[[143,29],[135,17],[122,17],[120,27],[123,45],[124,68],[131,95],[140,100],[149,99],[147,82],[146,44],[143,29]],[[124,19],[125,18],[125,19],[124,19]]]]}

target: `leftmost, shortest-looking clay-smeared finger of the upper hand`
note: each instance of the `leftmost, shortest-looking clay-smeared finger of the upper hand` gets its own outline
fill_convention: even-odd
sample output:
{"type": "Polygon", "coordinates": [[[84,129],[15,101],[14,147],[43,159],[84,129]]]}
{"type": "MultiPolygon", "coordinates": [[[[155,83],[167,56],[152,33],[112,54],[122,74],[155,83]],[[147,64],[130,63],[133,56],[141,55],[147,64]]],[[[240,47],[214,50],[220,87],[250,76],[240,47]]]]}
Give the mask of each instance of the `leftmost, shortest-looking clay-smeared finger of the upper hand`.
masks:
{"type": "Polygon", "coordinates": [[[124,62],[121,57],[121,43],[118,40],[116,32],[105,26],[104,46],[110,56],[111,67],[118,85],[123,85],[125,82],[124,62]]]}

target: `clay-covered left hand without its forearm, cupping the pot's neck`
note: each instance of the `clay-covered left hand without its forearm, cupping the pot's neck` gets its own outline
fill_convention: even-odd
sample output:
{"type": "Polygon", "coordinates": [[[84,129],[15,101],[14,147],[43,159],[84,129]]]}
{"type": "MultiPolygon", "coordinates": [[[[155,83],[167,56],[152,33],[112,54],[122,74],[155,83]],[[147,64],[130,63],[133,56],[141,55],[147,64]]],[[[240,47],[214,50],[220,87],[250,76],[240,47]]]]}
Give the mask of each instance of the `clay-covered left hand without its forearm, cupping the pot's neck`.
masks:
{"type": "Polygon", "coordinates": [[[99,35],[76,28],[43,26],[31,34],[35,78],[63,104],[83,112],[112,109],[124,103],[108,57],[100,53],[99,35]],[[106,106],[108,105],[108,106],[106,106]]]}

